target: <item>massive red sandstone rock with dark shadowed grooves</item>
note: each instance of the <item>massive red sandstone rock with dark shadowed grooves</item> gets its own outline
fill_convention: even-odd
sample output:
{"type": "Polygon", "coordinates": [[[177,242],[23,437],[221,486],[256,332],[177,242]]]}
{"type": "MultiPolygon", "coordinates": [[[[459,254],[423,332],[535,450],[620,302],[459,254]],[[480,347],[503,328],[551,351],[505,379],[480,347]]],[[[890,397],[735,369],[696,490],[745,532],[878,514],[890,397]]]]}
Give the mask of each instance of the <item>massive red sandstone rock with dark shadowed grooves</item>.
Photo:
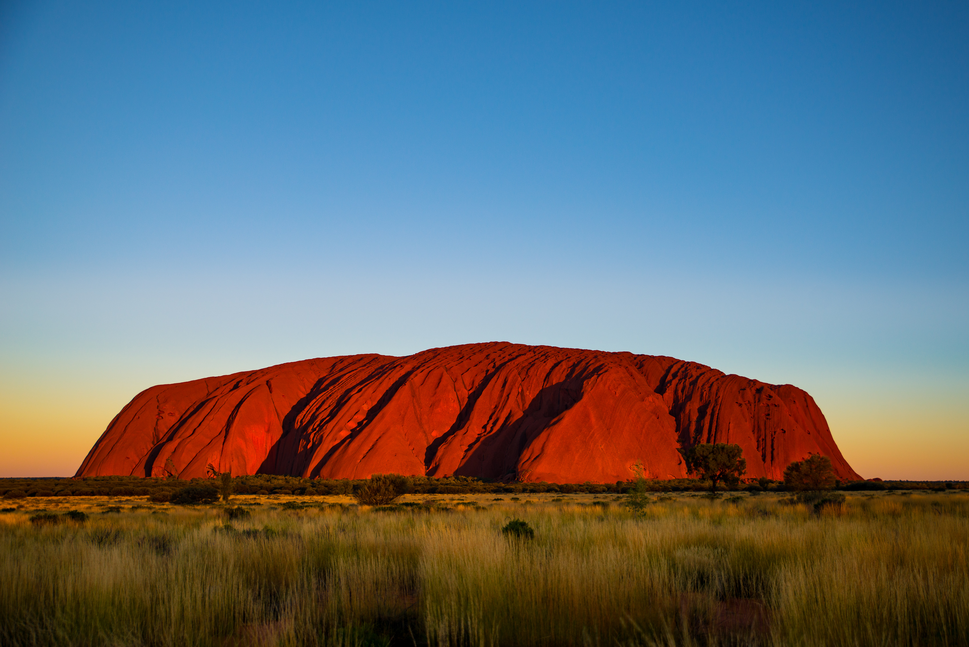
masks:
{"type": "Polygon", "coordinates": [[[233,474],[366,478],[395,472],[558,483],[685,475],[676,451],[743,447],[748,476],[842,458],[821,409],[789,384],[672,357],[507,342],[408,357],[350,355],[142,391],[78,476],[233,474]]]}

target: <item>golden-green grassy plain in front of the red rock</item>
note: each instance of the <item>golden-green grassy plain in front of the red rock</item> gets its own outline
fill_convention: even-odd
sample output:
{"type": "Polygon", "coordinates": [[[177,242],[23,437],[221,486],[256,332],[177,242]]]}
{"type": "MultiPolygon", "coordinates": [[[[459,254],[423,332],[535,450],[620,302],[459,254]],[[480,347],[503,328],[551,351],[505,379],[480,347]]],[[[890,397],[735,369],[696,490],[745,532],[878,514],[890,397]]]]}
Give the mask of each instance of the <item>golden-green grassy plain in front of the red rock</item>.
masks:
{"type": "Polygon", "coordinates": [[[611,494],[516,499],[234,496],[250,512],[234,519],[144,497],[11,501],[0,643],[969,644],[961,491],[820,512],[772,493],[653,494],[641,515],[611,494]],[[534,539],[501,533],[515,518],[534,539]]]}

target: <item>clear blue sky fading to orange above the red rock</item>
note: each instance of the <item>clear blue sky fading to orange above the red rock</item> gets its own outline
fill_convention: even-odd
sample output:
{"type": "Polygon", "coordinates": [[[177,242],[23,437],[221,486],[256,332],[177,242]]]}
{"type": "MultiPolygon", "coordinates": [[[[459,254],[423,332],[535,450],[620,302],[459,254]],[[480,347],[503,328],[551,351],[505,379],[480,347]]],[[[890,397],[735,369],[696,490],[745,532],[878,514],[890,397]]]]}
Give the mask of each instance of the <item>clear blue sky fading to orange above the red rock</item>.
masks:
{"type": "Polygon", "coordinates": [[[0,476],[142,389],[486,340],[969,479],[969,5],[0,5],[0,476]]]}

